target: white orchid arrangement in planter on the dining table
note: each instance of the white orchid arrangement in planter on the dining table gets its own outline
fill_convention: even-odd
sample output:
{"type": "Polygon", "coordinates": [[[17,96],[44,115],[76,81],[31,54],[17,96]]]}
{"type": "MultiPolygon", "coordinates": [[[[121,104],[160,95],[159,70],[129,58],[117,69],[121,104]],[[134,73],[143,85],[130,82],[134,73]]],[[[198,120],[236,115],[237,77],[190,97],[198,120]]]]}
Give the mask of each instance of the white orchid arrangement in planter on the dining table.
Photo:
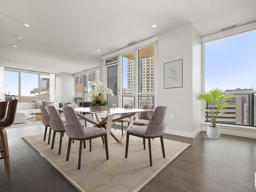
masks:
{"type": "Polygon", "coordinates": [[[105,99],[107,95],[114,96],[113,91],[102,82],[98,80],[93,81],[91,91],[88,94],[88,97],[93,98],[90,109],[94,111],[109,111],[110,103],[105,99]]]}

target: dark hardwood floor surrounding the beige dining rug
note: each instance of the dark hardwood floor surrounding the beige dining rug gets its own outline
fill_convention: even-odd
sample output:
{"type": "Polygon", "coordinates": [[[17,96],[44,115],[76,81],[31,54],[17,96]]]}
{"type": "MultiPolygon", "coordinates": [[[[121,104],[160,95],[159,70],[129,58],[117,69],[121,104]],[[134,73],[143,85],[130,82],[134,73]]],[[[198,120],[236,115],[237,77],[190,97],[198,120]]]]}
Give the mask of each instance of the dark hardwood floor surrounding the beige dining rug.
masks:
{"type": "MultiPolygon", "coordinates": [[[[39,126],[8,129],[13,181],[8,183],[0,161],[0,191],[77,191],[22,139],[43,132],[39,126]]],[[[191,146],[141,191],[254,191],[255,139],[221,135],[211,140],[205,132],[195,139],[164,138],[191,146]]]]}

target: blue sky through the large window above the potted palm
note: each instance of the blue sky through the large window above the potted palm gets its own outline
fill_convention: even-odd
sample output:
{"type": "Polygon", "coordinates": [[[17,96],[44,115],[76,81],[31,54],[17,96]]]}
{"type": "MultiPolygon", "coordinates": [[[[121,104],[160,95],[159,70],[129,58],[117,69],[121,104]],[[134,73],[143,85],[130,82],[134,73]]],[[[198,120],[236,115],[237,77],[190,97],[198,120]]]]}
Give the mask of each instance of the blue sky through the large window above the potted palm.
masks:
{"type": "Polygon", "coordinates": [[[256,90],[256,30],[205,44],[205,91],[256,90]]]}

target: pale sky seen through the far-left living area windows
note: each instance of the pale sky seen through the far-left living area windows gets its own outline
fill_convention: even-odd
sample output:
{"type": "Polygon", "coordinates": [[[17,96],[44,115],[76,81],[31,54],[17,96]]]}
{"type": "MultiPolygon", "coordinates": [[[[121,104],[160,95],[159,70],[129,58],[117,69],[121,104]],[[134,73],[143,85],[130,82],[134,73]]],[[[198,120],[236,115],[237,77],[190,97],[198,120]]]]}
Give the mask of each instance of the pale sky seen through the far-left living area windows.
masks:
{"type": "MultiPolygon", "coordinates": [[[[41,75],[40,78],[48,77],[41,75]]],[[[30,95],[30,91],[38,88],[38,75],[31,73],[21,73],[21,92],[22,96],[30,95]]],[[[4,74],[5,93],[10,95],[18,95],[18,72],[5,71],[4,74]]]]}

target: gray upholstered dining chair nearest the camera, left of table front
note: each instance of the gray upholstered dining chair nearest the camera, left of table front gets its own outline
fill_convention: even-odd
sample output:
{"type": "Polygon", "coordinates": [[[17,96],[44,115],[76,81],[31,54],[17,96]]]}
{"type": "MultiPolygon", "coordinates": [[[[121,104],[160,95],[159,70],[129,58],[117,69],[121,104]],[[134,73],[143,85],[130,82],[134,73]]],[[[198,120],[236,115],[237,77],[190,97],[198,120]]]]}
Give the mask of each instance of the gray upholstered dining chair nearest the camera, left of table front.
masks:
{"type": "Polygon", "coordinates": [[[82,141],[90,140],[90,151],[91,151],[91,145],[92,145],[91,139],[102,137],[102,136],[104,137],[104,141],[105,141],[106,159],[109,159],[109,148],[108,148],[108,139],[106,136],[106,131],[99,127],[83,127],[77,117],[76,112],[70,106],[63,107],[63,112],[67,121],[67,124],[65,125],[65,131],[67,136],[69,137],[66,161],[69,160],[72,139],[80,141],[79,156],[78,156],[78,169],[80,169],[81,155],[82,155],[82,141]]]}

